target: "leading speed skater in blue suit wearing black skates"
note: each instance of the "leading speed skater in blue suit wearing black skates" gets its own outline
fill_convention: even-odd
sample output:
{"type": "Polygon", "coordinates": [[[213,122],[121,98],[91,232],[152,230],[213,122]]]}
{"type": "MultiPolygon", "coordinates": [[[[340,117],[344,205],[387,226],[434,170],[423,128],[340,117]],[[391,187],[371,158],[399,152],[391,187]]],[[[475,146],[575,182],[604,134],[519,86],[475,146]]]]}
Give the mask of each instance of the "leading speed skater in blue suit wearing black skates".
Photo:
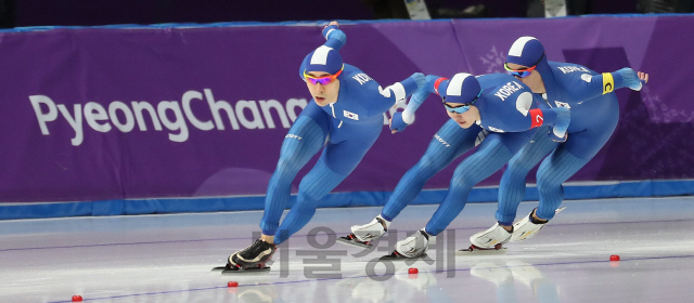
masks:
{"type": "Polygon", "coordinates": [[[266,268],[275,245],[304,227],[321,198],[361,161],[383,130],[383,114],[424,85],[424,75],[416,73],[385,89],[380,87],[359,68],[343,63],[338,51],[346,36],[336,22],[322,34],[327,41],[309,53],[299,68],[313,102],[304,108],[282,143],[260,221],[262,236],[231,254],[227,271],[266,268]],[[299,183],[296,205],[280,225],[292,181],[321,148],[318,162],[299,183]]]}

